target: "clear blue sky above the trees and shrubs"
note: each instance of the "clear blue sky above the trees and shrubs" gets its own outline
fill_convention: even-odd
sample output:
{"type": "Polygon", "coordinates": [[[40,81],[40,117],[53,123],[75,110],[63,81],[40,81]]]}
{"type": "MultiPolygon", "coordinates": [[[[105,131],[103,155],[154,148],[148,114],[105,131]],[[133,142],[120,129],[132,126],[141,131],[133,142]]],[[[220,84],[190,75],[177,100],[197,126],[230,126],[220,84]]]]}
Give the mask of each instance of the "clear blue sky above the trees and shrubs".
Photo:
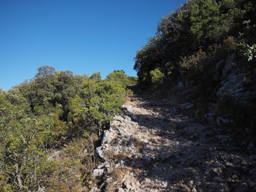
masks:
{"type": "Polygon", "coordinates": [[[130,76],[136,51],[184,0],[1,0],[0,88],[51,65],[74,74],[130,76]]]}

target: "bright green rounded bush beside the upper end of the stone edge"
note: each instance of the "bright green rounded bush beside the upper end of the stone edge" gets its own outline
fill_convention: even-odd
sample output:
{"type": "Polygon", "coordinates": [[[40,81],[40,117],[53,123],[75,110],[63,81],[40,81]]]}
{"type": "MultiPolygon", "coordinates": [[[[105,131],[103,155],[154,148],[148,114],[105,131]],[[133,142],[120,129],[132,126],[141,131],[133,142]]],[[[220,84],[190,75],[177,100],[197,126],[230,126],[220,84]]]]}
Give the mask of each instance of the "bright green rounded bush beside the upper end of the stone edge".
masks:
{"type": "Polygon", "coordinates": [[[116,82],[88,80],[72,99],[69,117],[81,126],[105,128],[112,115],[119,112],[124,94],[125,89],[116,82]]]}

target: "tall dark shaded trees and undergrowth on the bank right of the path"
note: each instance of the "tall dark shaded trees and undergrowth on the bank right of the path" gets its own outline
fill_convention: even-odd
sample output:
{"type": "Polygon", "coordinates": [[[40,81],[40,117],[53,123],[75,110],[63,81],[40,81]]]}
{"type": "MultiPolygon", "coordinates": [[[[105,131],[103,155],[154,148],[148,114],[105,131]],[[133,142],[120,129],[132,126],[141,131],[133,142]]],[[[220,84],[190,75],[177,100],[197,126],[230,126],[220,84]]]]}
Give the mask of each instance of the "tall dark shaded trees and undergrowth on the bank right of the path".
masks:
{"type": "Polygon", "coordinates": [[[237,126],[240,132],[245,132],[246,128],[256,130],[255,98],[249,98],[251,106],[231,102],[229,105],[236,107],[230,107],[218,101],[216,95],[228,55],[234,55],[232,67],[246,73],[245,90],[255,91],[255,34],[255,0],[187,1],[162,18],[155,36],[137,51],[134,69],[138,74],[138,86],[154,96],[163,97],[168,91],[175,91],[177,82],[193,84],[187,87],[189,94],[183,99],[195,106],[204,106],[206,110],[200,112],[201,115],[207,112],[209,103],[219,102],[217,108],[222,112],[218,115],[226,114],[227,118],[235,119],[233,127],[237,126]]]}

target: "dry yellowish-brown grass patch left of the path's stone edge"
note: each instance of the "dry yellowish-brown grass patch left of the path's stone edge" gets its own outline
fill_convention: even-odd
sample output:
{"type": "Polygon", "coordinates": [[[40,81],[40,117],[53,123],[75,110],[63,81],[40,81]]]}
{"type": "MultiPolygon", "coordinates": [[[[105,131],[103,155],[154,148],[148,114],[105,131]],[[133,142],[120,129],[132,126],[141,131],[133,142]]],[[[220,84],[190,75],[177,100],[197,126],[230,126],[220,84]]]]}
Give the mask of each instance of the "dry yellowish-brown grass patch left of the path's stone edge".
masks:
{"type": "Polygon", "coordinates": [[[94,151],[97,135],[88,138],[76,139],[69,142],[61,150],[63,156],[56,160],[55,174],[59,179],[54,182],[54,189],[49,191],[80,191],[83,186],[94,183],[90,175],[93,169],[100,164],[94,151]],[[86,151],[85,151],[86,149],[86,151]]]}

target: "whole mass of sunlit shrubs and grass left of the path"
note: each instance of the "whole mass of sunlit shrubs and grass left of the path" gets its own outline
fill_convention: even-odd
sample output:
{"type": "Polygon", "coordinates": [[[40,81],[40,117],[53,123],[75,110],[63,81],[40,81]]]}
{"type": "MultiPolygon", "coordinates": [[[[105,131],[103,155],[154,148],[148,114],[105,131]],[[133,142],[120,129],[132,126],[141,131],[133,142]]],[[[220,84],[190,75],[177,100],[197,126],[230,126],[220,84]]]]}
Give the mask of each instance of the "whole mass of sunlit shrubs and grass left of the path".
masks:
{"type": "Polygon", "coordinates": [[[130,80],[121,73],[101,80],[100,73],[77,76],[42,66],[32,80],[0,90],[0,190],[80,190],[96,166],[90,135],[125,101],[121,82],[130,80]],[[88,156],[80,154],[85,145],[92,148],[88,156]],[[56,149],[63,149],[65,161],[48,160],[56,149]]]}

